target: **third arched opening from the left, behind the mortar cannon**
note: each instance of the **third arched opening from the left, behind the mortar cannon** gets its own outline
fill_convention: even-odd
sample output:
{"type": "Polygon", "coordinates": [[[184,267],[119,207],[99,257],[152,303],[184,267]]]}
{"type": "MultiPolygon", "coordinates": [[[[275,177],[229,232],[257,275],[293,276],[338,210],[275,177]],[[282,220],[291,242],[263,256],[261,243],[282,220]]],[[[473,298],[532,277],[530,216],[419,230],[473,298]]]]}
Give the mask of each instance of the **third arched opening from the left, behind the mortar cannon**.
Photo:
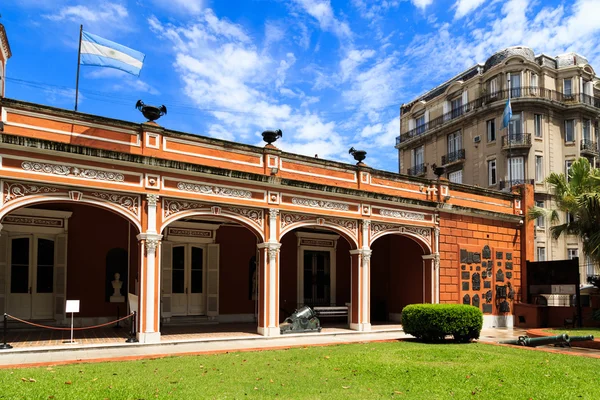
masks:
{"type": "MultiPolygon", "coordinates": [[[[351,302],[351,255],[356,240],[343,229],[305,224],[280,238],[279,322],[294,310],[345,307],[351,302]]],[[[348,327],[347,316],[321,316],[321,326],[348,327]]]]}

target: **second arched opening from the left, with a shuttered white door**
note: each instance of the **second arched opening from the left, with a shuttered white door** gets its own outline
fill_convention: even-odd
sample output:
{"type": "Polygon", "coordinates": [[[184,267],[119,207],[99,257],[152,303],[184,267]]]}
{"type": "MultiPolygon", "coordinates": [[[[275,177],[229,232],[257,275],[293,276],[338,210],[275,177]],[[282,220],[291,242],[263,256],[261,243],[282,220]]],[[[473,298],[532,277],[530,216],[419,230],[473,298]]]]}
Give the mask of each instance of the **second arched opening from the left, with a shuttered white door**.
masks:
{"type": "Polygon", "coordinates": [[[262,233],[254,227],[256,221],[192,211],[163,224],[163,336],[256,333],[257,244],[263,242],[262,233]],[[186,328],[182,329],[182,325],[186,328]]]}

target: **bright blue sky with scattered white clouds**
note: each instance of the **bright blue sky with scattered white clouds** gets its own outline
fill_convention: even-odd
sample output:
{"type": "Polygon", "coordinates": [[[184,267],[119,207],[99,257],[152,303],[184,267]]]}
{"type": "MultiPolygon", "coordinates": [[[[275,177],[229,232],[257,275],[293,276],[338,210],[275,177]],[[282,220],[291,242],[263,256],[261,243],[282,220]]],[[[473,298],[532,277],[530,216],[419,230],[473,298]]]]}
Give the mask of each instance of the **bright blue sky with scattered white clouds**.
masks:
{"type": "Polygon", "coordinates": [[[0,5],[7,97],[73,108],[79,24],[146,54],[139,78],[83,66],[79,110],[397,171],[399,107],[495,51],[600,68],[600,0],[20,0],[0,5]],[[34,83],[32,83],[34,82],[34,83]],[[39,84],[41,83],[41,84],[39,84]]]}

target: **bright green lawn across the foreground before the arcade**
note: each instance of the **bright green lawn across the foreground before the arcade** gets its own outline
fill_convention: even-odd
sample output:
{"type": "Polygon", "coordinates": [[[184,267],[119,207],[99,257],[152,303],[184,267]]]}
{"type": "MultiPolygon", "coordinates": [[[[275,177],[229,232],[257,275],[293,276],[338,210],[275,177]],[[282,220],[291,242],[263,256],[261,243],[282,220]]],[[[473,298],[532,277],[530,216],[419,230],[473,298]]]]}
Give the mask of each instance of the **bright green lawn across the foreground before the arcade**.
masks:
{"type": "Polygon", "coordinates": [[[486,344],[352,344],[0,370],[0,399],[597,399],[599,369],[486,344]]]}

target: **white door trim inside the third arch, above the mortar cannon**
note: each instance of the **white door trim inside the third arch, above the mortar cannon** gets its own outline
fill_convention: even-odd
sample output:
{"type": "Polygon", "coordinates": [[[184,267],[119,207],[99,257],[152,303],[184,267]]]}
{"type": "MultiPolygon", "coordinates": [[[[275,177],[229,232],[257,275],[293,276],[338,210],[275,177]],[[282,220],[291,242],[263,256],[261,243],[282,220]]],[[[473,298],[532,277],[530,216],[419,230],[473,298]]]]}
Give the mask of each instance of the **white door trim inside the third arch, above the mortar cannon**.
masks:
{"type": "Polygon", "coordinates": [[[329,253],[329,302],[336,304],[336,279],[337,279],[337,267],[336,267],[336,252],[337,252],[337,240],[340,238],[339,235],[327,234],[327,233],[310,233],[310,232],[296,232],[297,246],[298,246],[298,259],[296,265],[296,304],[304,304],[304,252],[305,251],[323,251],[329,253]],[[323,246],[306,246],[301,244],[301,239],[328,239],[333,240],[333,247],[323,246]]]}

